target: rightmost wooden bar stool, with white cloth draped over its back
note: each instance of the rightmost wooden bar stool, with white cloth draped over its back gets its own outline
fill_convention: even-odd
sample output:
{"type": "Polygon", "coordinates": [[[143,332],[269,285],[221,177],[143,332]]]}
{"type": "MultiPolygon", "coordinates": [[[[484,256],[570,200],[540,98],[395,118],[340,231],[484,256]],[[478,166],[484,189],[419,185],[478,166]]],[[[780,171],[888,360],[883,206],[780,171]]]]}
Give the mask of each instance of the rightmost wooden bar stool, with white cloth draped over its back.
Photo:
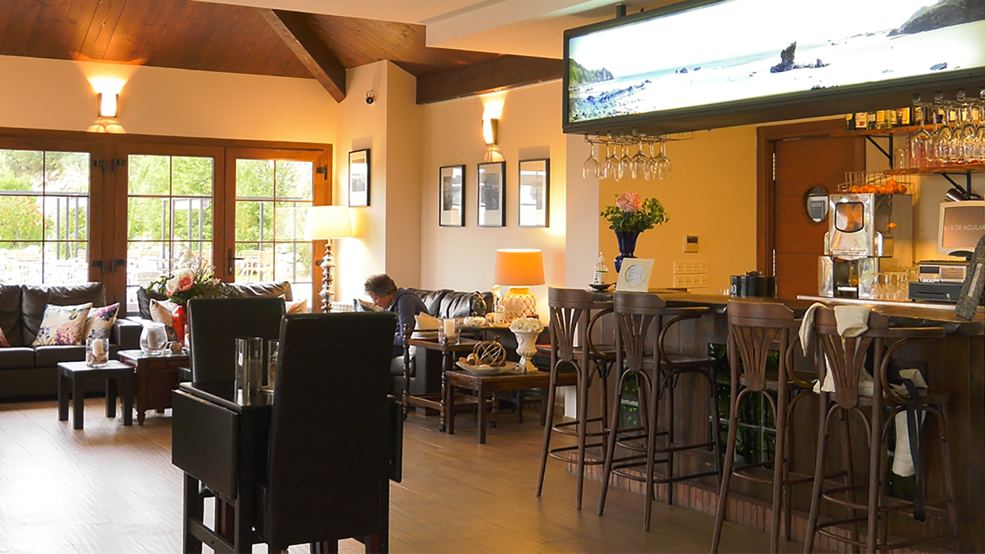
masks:
{"type": "MultiPolygon", "coordinates": [[[[942,498],[925,503],[927,513],[940,519],[949,520],[951,532],[937,534],[921,539],[907,540],[890,544],[886,537],[887,518],[893,512],[912,512],[915,503],[886,498],[886,435],[892,429],[892,420],[896,413],[904,410],[906,399],[901,397],[889,386],[887,369],[892,355],[903,345],[917,339],[938,339],[944,337],[941,328],[890,328],[885,317],[875,312],[869,315],[868,331],[854,338],[840,337],[834,310],[820,308],[815,315],[815,339],[818,344],[818,374],[821,383],[826,372],[833,375],[835,392],[821,392],[821,423],[818,435],[818,458],[815,468],[814,494],[811,498],[811,516],[808,521],[807,536],[804,539],[804,552],[814,548],[815,533],[821,533],[834,540],[851,544],[853,547],[865,548],[866,552],[906,548],[921,542],[951,539],[954,551],[957,549],[957,525],[953,504],[953,484],[951,478],[951,451],[948,446],[947,404],[950,398],[944,391],[921,389],[919,395],[923,410],[933,416],[937,423],[937,438],[941,441],[941,453],[944,466],[945,492],[942,498]],[[894,340],[886,348],[886,341],[894,340]],[[872,397],[860,396],[859,376],[862,373],[866,352],[872,346],[873,351],[873,391],[872,397]],[[825,363],[826,361],[826,363],[825,363]],[[833,397],[833,398],[832,398],[833,397]],[[869,408],[868,410],[863,407],[869,408]],[[846,492],[848,487],[824,488],[821,475],[824,473],[824,455],[827,450],[828,429],[831,418],[839,413],[855,413],[863,421],[869,439],[869,479],[867,483],[855,485],[855,490],[868,490],[866,504],[837,498],[835,495],[846,492]],[[846,506],[854,511],[864,511],[865,516],[848,520],[818,523],[821,500],[846,506]],[[946,505],[946,506],[945,506],[946,505]],[[830,527],[843,524],[867,523],[865,540],[857,536],[844,537],[833,532],[830,527]]],[[[928,418],[929,419],[929,418],[928,418]]],[[[920,441],[922,442],[922,441],[920,441]]],[[[917,470],[917,487],[923,484],[920,474],[920,463],[914,462],[917,470]]],[[[922,493],[922,490],[920,491],[922,493]]],[[[854,535],[854,533],[853,533],[854,535]]]]}

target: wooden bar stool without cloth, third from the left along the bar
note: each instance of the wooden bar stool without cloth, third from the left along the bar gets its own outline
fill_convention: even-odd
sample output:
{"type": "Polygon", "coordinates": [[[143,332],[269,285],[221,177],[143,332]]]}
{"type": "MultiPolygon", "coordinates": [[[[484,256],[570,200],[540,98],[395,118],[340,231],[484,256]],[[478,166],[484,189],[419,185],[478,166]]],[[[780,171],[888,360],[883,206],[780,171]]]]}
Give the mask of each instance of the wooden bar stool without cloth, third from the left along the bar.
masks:
{"type": "MultiPolygon", "coordinates": [[[[782,506],[785,523],[785,538],[790,540],[790,488],[795,484],[813,481],[810,475],[791,475],[792,436],[791,418],[796,403],[811,395],[813,375],[797,375],[794,370],[795,348],[800,347],[797,329],[800,321],[794,313],[777,303],[729,300],[729,366],[732,370],[732,400],[729,408],[729,438],[725,447],[725,466],[722,472],[722,486],[718,492],[718,511],[715,518],[715,532],[711,540],[711,551],[718,551],[721,540],[722,523],[728,506],[729,485],[732,476],[757,483],[771,484],[772,523],[770,526],[769,551],[776,552],[779,547],[780,509],[782,506]],[[767,358],[771,351],[779,352],[779,368],[776,373],[767,371],[767,358]],[[740,387],[742,391],[740,391],[740,387]],[[776,400],[768,393],[776,395],[776,400]],[[735,449],[739,429],[739,406],[744,398],[754,393],[760,394],[773,412],[776,422],[776,451],[774,460],[746,463],[734,466],[735,449]],[[794,395],[793,399],[790,396],[794,395]],[[752,472],[756,468],[773,465],[772,478],[758,476],[752,472]],[[782,500],[781,500],[782,495],[782,500]]],[[[847,453],[851,460],[851,453],[847,453]]],[[[850,466],[850,465],[849,465],[850,466]]],[[[851,473],[847,471],[847,473],[851,473]]],[[[849,477],[849,480],[851,477],[849,477]]]]}

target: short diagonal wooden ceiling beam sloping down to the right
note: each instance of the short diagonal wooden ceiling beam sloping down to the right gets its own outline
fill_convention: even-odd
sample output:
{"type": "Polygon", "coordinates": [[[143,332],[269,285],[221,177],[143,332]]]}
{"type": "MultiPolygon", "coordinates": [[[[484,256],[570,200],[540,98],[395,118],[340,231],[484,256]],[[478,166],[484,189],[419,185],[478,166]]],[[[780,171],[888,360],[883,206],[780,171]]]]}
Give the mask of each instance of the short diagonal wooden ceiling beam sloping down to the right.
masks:
{"type": "Polygon", "coordinates": [[[311,28],[309,16],[299,12],[257,9],[335,101],[345,99],[346,68],[311,28]]]}

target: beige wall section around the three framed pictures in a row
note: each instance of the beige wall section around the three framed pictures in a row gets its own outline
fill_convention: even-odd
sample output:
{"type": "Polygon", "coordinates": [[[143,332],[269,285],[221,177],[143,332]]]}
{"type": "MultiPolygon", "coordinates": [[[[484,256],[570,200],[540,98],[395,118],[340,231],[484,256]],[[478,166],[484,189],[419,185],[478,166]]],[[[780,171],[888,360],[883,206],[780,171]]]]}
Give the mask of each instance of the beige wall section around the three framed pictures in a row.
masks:
{"type": "MultiPolygon", "coordinates": [[[[567,217],[566,142],[560,131],[560,82],[425,107],[421,167],[421,285],[489,290],[497,248],[540,248],[547,285],[532,289],[538,312],[547,315],[547,286],[563,286],[571,225],[567,217]],[[477,226],[477,164],[493,155],[483,142],[485,104],[502,102],[498,154],[506,161],[506,226],[477,226]],[[551,158],[551,226],[517,227],[518,160],[551,158]],[[439,227],[438,167],[465,164],[465,226],[439,227]]],[[[590,246],[594,249],[594,246],[590,246]]]]}

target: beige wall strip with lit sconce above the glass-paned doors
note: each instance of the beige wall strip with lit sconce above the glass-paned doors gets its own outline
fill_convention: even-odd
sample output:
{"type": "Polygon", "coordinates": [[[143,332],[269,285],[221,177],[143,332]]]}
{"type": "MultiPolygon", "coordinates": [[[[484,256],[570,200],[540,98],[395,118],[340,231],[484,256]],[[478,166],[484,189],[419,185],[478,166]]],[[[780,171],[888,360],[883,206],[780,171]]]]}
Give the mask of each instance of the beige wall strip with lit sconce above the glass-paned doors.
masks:
{"type": "Polygon", "coordinates": [[[125,82],[117,132],[335,141],[336,103],[313,79],[15,56],[0,56],[0,75],[0,127],[99,131],[90,79],[111,78],[125,82]]]}

